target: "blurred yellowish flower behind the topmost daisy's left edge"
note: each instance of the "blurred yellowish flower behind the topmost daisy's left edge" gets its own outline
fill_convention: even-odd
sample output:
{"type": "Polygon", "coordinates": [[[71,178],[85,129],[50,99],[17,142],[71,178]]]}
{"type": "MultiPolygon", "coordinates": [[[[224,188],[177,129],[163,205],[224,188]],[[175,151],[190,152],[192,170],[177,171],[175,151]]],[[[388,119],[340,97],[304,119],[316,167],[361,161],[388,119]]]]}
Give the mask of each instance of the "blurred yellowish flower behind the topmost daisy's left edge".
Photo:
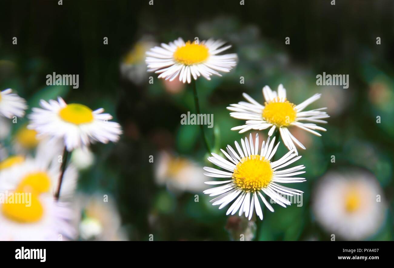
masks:
{"type": "Polygon", "coordinates": [[[136,84],[141,84],[147,80],[147,66],[145,64],[145,53],[155,43],[150,37],[143,37],[134,47],[126,54],[121,62],[121,73],[126,78],[136,84]]]}

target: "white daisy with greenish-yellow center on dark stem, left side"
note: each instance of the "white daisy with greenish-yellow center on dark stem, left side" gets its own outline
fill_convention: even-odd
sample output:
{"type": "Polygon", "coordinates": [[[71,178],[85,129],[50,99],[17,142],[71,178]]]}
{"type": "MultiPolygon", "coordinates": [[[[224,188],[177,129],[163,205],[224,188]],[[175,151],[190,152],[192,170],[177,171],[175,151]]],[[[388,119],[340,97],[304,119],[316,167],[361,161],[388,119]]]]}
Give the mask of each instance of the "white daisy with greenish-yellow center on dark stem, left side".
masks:
{"type": "Polygon", "coordinates": [[[103,108],[92,111],[83,104],[66,104],[61,97],[58,101],[41,100],[43,108],[33,108],[29,115],[28,128],[35,129],[39,135],[61,138],[68,151],[86,147],[90,143],[100,141],[118,141],[122,134],[121,126],[110,122],[110,114],[102,114],[103,108]]]}

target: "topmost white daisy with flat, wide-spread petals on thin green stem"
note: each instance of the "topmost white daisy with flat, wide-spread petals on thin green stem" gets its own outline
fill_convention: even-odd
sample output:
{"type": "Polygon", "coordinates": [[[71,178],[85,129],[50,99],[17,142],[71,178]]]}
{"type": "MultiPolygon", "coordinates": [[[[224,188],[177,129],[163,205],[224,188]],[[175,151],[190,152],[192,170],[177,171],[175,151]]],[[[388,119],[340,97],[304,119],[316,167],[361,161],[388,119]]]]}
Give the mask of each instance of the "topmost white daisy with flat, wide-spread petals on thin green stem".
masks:
{"type": "Polygon", "coordinates": [[[161,47],[151,48],[145,62],[149,72],[160,73],[158,77],[166,80],[172,81],[179,76],[179,81],[190,83],[191,76],[197,80],[200,75],[211,80],[212,74],[221,76],[219,71],[227,73],[237,63],[237,54],[217,55],[231,47],[223,47],[225,43],[213,39],[185,43],[179,37],[168,45],[162,43],[161,47]]]}

